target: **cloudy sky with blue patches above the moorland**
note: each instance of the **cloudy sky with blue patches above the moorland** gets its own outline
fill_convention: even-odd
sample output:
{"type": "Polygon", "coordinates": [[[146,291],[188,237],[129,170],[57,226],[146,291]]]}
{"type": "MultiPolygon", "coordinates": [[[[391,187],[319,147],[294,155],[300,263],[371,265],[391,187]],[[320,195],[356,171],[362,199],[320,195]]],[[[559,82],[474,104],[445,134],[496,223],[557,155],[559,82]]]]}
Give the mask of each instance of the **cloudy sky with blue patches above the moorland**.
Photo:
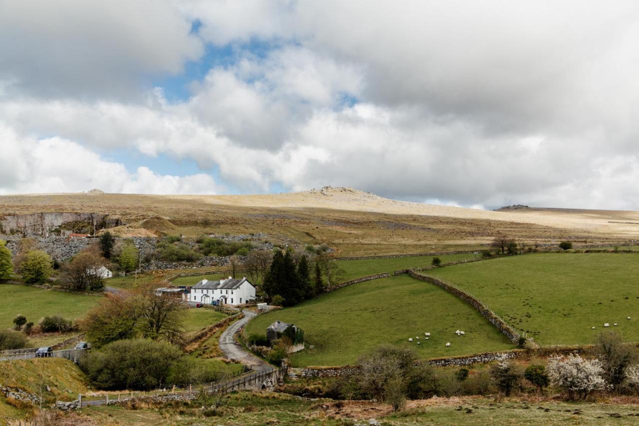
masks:
{"type": "Polygon", "coordinates": [[[639,3],[0,0],[0,194],[639,210],[639,3]]]}

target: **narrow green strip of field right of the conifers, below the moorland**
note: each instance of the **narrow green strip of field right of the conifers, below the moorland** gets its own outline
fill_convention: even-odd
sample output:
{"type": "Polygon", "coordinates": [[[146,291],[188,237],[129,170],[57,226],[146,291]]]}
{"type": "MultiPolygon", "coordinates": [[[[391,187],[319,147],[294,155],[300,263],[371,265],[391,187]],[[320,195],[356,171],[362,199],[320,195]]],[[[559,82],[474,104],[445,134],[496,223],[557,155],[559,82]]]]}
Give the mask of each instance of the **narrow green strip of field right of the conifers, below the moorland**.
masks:
{"type": "Polygon", "coordinates": [[[353,280],[362,276],[379,274],[380,272],[393,272],[399,269],[417,268],[431,265],[433,257],[438,257],[442,263],[456,262],[458,260],[473,259],[479,255],[473,253],[463,253],[461,255],[441,255],[441,256],[408,256],[392,257],[381,259],[357,259],[357,260],[337,260],[339,267],[344,269],[343,281],[353,280]]]}

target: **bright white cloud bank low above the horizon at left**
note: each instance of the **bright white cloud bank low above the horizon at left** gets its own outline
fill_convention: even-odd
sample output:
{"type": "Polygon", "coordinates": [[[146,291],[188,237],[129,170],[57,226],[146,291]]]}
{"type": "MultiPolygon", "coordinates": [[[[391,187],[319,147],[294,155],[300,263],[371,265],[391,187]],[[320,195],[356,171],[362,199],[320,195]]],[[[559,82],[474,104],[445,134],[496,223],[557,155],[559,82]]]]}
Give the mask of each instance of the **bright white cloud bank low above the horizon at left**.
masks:
{"type": "Polygon", "coordinates": [[[186,177],[158,175],[146,167],[129,173],[83,146],[61,138],[21,138],[0,123],[0,194],[77,193],[99,188],[107,193],[215,194],[220,185],[204,173],[186,177]]]}

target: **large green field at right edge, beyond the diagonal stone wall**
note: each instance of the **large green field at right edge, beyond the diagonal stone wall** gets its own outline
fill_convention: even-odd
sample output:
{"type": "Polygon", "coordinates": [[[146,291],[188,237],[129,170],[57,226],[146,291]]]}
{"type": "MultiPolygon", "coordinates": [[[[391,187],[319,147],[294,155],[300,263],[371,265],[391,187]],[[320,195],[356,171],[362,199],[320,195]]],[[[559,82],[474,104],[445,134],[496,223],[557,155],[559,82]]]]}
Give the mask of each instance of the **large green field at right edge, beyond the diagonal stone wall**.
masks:
{"type": "Polygon", "coordinates": [[[625,340],[639,341],[636,254],[509,256],[427,274],[468,291],[542,345],[592,343],[604,322],[625,340]]]}

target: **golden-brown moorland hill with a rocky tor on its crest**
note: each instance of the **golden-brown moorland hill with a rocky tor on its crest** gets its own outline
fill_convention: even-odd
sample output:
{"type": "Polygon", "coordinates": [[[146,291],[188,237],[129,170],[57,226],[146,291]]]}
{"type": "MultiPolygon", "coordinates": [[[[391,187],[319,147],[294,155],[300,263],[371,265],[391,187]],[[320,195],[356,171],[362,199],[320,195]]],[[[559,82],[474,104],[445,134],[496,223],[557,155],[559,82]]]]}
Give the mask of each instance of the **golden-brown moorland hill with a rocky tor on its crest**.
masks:
{"type": "MultiPolygon", "coordinates": [[[[42,212],[107,215],[124,236],[259,233],[281,244],[329,244],[338,255],[475,249],[500,233],[521,241],[611,244],[639,239],[639,212],[488,211],[389,200],[351,188],[257,195],[39,194],[0,197],[0,219],[42,212]]],[[[33,218],[32,218],[33,219],[33,218]]]]}

